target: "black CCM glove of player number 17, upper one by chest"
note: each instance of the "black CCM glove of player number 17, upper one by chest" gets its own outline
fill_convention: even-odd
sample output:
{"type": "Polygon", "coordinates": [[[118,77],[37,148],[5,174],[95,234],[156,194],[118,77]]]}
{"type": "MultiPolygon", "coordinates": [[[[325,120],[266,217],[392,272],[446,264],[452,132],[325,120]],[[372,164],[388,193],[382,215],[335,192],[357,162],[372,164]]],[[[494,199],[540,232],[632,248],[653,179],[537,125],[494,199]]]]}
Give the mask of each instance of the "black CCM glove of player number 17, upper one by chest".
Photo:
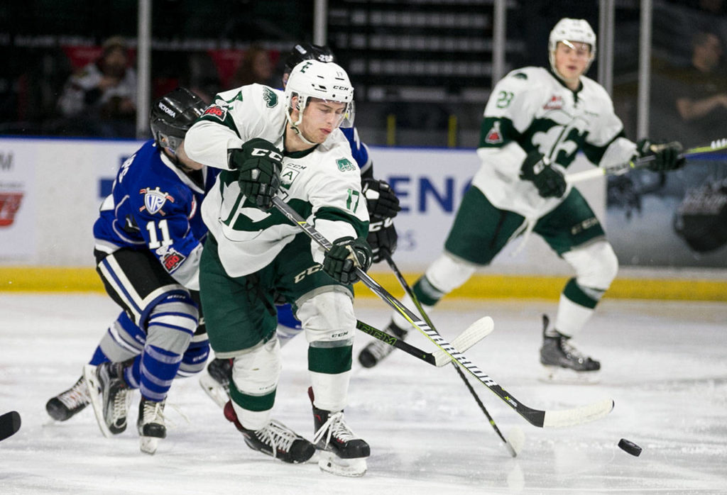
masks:
{"type": "Polygon", "coordinates": [[[268,210],[280,188],[283,155],[265,139],[251,139],[239,150],[230,150],[229,165],[238,170],[240,192],[257,208],[268,210]]]}

